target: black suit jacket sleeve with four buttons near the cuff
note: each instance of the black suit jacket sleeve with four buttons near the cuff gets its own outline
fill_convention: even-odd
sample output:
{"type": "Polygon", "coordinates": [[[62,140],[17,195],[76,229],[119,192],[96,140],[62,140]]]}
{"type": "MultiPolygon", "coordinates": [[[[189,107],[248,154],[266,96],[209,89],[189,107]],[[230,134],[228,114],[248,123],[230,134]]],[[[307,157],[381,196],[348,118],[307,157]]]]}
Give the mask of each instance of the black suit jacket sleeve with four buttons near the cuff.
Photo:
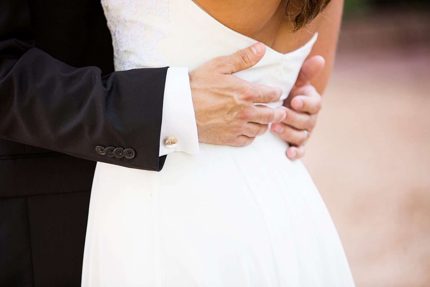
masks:
{"type": "Polygon", "coordinates": [[[0,137],[125,167],[160,170],[167,68],[101,76],[34,47],[28,4],[0,1],[0,137]],[[98,145],[133,148],[107,157],[98,145]]]}

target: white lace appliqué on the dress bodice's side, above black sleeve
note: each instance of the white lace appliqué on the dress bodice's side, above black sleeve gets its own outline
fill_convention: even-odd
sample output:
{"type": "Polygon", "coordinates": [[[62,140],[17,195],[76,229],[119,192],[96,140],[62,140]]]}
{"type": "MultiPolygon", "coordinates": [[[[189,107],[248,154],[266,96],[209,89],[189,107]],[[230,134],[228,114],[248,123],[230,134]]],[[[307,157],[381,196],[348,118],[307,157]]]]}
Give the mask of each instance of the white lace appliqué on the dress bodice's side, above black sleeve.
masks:
{"type": "Polygon", "coordinates": [[[148,42],[144,23],[142,21],[133,23],[130,18],[139,11],[142,19],[151,13],[167,23],[169,22],[167,4],[168,0],[101,0],[107,26],[112,34],[116,71],[141,68],[148,62],[155,61],[159,67],[164,67],[166,57],[160,55],[157,49],[163,44],[161,40],[170,36],[168,27],[155,26],[148,42]]]}

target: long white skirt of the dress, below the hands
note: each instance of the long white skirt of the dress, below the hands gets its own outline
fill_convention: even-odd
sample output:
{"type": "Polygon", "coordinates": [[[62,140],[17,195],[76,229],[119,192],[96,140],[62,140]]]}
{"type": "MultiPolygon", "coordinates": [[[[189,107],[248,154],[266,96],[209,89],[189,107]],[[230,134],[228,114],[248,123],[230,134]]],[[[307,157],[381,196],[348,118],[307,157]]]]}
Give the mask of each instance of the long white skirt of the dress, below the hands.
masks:
{"type": "Polygon", "coordinates": [[[82,286],[354,286],[300,160],[270,131],[246,147],[200,143],[161,172],[98,163],[82,286]]]}

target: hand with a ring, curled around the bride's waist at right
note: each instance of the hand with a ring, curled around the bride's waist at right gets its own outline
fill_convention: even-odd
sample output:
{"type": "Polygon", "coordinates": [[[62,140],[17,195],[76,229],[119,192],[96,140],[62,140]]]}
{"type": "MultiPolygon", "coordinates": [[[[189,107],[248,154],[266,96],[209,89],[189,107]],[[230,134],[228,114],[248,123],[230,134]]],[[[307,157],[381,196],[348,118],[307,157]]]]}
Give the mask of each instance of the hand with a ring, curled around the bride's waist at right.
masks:
{"type": "Polygon", "coordinates": [[[295,160],[304,155],[304,144],[315,127],[316,116],[321,108],[321,95],[310,85],[310,81],[322,71],[325,63],[321,56],[313,56],[304,62],[295,85],[284,101],[287,112],[285,120],[273,123],[270,127],[291,145],[286,151],[289,159],[295,160]]]}

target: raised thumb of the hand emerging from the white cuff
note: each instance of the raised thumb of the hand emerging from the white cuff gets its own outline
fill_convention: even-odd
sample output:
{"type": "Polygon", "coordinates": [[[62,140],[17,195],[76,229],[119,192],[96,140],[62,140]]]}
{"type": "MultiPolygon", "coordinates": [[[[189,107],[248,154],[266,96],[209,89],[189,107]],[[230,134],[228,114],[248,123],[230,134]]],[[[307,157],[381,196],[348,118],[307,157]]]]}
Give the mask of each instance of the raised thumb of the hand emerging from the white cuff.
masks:
{"type": "Polygon", "coordinates": [[[224,74],[233,74],[251,68],[263,58],[265,52],[266,45],[258,42],[231,56],[226,56],[227,65],[223,67],[224,74]]]}

